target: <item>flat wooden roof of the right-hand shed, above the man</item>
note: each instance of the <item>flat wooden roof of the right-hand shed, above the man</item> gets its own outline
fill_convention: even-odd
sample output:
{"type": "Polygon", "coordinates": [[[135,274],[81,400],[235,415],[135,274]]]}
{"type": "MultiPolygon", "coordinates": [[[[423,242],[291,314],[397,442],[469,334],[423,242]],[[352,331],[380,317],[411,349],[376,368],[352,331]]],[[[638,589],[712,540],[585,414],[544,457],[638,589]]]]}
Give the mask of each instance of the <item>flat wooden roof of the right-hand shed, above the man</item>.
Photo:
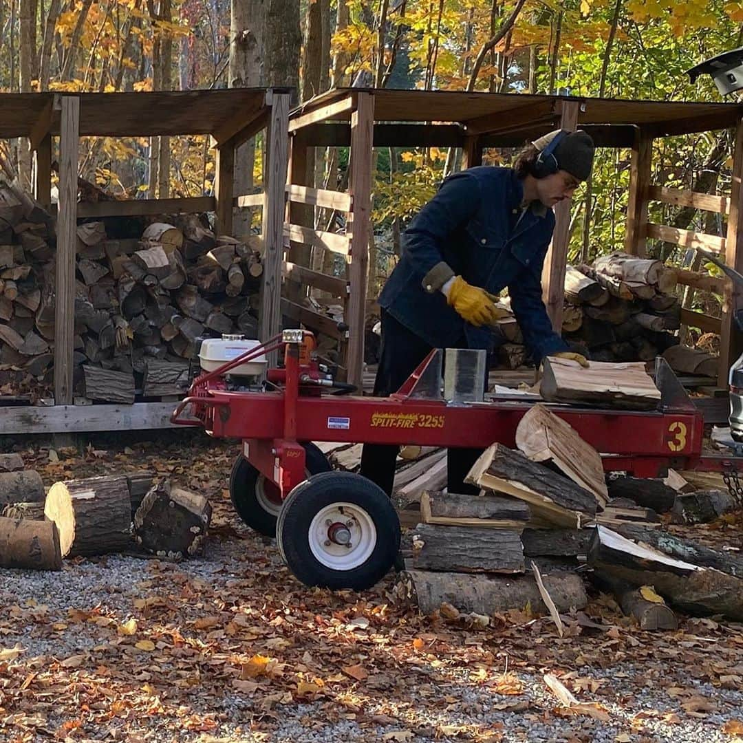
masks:
{"type": "MultiPolygon", "coordinates": [[[[507,131],[551,120],[562,101],[582,104],[579,124],[646,126],[653,133],[685,134],[733,126],[743,115],[740,103],[619,100],[516,93],[467,93],[372,88],[337,88],[296,108],[291,117],[327,106],[348,95],[374,94],[378,122],[455,122],[475,133],[507,131]],[[506,118],[504,114],[509,114],[506,118]]],[[[348,114],[345,115],[348,118],[348,114]]],[[[340,118],[340,117],[338,117],[340,118]]]]}

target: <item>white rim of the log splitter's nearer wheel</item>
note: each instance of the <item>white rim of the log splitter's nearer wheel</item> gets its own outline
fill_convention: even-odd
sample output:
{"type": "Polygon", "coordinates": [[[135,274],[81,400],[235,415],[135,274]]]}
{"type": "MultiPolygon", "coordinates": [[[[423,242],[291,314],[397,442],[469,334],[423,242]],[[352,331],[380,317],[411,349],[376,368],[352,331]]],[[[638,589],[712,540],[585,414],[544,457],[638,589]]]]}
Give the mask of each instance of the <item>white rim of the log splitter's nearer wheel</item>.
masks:
{"type": "Polygon", "coordinates": [[[362,507],[355,503],[331,503],[320,509],[308,531],[310,550],[315,559],[332,570],[353,570],[371,557],[377,546],[377,528],[362,507]],[[350,534],[350,546],[330,538],[333,525],[343,525],[350,534]]]}

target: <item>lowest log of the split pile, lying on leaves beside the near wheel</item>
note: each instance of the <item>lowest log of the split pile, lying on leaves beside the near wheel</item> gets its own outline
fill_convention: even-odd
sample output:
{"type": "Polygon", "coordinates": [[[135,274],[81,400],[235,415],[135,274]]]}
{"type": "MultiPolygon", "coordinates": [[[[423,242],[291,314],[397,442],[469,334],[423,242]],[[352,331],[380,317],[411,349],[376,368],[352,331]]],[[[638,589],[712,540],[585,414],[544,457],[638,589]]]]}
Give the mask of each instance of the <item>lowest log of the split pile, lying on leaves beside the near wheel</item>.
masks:
{"type": "MultiPolygon", "coordinates": [[[[584,609],[588,604],[585,586],[575,573],[552,573],[542,578],[558,611],[584,609]]],[[[459,611],[492,616],[496,611],[524,609],[546,614],[536,580],[531,575],[499,577],[482,574],[434,573],[408,570],[400,573],[396,593],[405,602],[432,614],[443,603],[459,611]]]]}

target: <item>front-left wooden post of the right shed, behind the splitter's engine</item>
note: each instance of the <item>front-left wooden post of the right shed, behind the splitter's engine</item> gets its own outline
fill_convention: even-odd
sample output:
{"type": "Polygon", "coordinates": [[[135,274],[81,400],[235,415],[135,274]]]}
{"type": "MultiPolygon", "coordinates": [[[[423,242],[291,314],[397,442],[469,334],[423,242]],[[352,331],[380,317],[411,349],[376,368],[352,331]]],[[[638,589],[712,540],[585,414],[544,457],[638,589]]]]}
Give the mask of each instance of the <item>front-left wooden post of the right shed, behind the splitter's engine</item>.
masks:
{"type": "Polygon", "coordinates": [[[354,201],[348,213],[346,233],[351,235],[351,294],[348,296],[348,382],[362,389],[364,365],[364,319],[366,278],[369,273],[371,232],[371,163],[374,141],[374,96],[357,93],[351,114],[351,180],[354,201]]]}

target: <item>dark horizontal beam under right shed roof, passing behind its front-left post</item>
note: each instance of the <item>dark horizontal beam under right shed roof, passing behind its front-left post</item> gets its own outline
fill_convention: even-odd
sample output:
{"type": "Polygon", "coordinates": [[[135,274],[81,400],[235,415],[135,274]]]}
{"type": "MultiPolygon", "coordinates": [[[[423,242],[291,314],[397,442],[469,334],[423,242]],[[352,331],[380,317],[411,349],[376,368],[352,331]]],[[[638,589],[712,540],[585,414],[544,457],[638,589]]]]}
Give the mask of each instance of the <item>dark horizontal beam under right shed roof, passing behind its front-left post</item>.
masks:
{"type": "MultiPolygon", "coordinates": [[[[348,123],[317,123],[294,134],[308,147],[348,147],[348,123]]],[[[464,134],[459,124],[375,124],[375,147],[461,147],[464,134]]]]}

